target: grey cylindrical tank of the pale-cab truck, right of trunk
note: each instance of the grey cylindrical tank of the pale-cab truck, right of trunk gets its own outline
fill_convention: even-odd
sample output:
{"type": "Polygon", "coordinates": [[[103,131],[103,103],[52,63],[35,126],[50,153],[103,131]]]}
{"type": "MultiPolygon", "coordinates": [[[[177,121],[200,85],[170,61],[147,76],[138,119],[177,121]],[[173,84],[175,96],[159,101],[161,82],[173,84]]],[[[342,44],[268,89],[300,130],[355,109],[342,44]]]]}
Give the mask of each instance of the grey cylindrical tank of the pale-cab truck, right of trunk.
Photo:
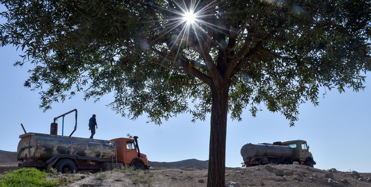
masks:
{"type": "Polygon", "coordinates": [[[292,157],[294,151],[287,146],[265,145],[265,144],[245,144],[241,148],[241,156],[244,159],[255,157],[292,157]]]}

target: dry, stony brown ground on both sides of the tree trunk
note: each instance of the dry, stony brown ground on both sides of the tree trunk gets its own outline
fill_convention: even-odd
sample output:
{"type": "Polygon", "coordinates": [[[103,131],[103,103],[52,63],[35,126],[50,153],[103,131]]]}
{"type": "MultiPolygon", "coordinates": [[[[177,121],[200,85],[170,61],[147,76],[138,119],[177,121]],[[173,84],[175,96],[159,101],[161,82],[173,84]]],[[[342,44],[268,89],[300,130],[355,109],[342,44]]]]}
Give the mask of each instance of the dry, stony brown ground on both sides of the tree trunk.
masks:
{"type": "MultiPolygon", "coordinates": [[[[111,171],[59,177],[74,181],[67,187],[206,187],[207,182],[207,170],[159,169],[139,173],[111,171]]],[[[371,187],[371,174],[266,165],[227,170],[226,183],[226,187],[371,187]]]]}

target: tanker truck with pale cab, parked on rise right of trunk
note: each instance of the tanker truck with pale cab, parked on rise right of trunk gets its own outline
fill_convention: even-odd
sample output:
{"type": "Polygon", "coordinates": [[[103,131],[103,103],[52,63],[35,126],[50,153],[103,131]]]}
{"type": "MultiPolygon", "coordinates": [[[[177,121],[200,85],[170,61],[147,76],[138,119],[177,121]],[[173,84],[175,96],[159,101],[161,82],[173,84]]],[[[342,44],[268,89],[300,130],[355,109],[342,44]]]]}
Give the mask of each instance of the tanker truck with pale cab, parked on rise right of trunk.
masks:
{"type": "Polygon", "coordinates": [[[266,164],[292,164],[298,162],[301,165],[313,167],[313,160],[309,146],[304,140],[287,142],[274,142],[273,144],[245,144],[241,148],[241,156],[244,160],[242,167],[266,165],[266,164]]]}

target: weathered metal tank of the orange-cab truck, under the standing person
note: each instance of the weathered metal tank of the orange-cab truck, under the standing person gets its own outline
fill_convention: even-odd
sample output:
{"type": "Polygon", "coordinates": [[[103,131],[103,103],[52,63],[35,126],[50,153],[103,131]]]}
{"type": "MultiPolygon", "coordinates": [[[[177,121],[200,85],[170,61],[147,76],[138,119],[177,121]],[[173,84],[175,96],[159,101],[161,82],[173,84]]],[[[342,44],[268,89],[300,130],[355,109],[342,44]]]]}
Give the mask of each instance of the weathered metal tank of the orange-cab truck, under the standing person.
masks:
{"type": "Polygon", "coordinates": [[[39,133],[26,133],[19,138],[17,159],[20,161],[47,161],[59,154],[100,159],[116,156],[115,143],[108,140],[39,133]]]}

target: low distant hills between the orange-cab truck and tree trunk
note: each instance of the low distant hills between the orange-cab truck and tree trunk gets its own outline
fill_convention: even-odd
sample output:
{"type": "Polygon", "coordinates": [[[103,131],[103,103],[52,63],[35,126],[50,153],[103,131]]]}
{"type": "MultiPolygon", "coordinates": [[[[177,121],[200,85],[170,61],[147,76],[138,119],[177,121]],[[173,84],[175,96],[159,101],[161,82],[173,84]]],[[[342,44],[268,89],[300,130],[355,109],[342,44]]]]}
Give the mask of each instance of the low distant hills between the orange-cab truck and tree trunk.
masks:
{"type": "Polygon", "coordinates": [[[177,169],[197,169],[205,170],[208,168],[209,161],[199,161],[197,159],[188,159],[177,162],[152,162],[148,161],[148,164],[154,168],[177,168],[177,169]]]}

